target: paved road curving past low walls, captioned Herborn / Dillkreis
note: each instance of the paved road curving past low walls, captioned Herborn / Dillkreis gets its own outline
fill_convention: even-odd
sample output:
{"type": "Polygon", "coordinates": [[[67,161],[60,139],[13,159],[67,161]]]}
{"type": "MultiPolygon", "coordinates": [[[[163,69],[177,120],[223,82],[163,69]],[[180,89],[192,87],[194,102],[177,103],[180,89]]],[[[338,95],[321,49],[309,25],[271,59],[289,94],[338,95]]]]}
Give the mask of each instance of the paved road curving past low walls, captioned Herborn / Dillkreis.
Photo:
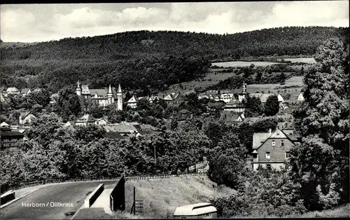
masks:
{"type": "Polygon", "coordinates": [[[117,181],[83,181],[47,186],[34,193],[3,207],[0,219],[71,219],[72,215],[64,213],[76,212],[87,197],[99,184],[106,186],[116,184],[117,181]],[[56,202],[56,203],[53,203],[56,202]],[[68,203],[62,207],[58,202],[68,203]],[[36,207],[26,207],[36,205],[36,207]]]}

